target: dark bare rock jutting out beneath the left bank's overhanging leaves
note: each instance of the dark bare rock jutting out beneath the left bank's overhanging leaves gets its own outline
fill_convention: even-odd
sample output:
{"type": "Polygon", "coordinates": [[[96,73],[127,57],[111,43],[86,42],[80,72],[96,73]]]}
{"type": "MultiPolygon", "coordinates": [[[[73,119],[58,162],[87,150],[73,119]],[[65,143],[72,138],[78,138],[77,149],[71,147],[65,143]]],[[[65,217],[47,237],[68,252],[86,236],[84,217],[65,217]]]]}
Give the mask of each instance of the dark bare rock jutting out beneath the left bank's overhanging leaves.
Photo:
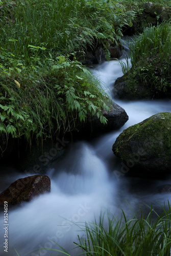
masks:
{"type": "Polygon", "coordinates": [[[126,111],[115,102],[113,102],[110,111],[103,112],[103,116],[107,118],[107,124],[104,125],[101,123],[100,119],[97,118],[95,114],[90,120],[77,125],[77,135],[83,135],[83,137],[86,138],[102,132],[116,130],[123,126],[129,118],[126,111]]]}

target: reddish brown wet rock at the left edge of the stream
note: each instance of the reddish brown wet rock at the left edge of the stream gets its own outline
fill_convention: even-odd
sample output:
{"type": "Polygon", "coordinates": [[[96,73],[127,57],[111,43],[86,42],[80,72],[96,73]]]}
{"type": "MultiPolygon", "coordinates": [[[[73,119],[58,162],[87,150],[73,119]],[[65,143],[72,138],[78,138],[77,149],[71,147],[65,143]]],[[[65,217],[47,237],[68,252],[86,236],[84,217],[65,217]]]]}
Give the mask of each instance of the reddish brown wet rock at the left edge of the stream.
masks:
{"type": "Polygon", "coordinates": [[[51,191],[51,180],[46,175],[34,175],[18,179],[0,194],[0,205],[31,201],[34,197],[51,191]]]}

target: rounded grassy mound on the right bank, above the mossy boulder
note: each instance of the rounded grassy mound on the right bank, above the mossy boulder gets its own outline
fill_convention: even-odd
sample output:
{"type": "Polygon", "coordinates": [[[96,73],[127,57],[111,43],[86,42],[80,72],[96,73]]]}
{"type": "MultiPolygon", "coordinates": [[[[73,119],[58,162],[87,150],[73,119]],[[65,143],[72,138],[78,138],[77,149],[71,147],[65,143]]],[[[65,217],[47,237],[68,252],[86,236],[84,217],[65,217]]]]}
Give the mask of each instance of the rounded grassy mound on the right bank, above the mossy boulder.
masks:
{"type": "Polygon", "coordinates": [[[132,84],[138,81],[142,88],[148,89],[149,97],[168,97],[171,93],[170,32],[170,22],[145,28],[130,44],[131,69],[122,64],[124,74],[128,72],[127,77],[136,78],[132,84]]]}

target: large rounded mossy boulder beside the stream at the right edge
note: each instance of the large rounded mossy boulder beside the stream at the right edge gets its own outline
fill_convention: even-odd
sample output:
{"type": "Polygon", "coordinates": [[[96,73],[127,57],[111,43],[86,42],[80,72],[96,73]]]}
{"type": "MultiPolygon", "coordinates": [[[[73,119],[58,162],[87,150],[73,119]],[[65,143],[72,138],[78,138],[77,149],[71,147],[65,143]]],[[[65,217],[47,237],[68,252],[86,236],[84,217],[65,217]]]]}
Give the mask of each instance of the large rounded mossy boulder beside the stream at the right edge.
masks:
{"type": "Polygon", "coordinates": [[[171,173],[171,113],[153,115],[128,127],[112,147],[129,168],[171,173]]]}

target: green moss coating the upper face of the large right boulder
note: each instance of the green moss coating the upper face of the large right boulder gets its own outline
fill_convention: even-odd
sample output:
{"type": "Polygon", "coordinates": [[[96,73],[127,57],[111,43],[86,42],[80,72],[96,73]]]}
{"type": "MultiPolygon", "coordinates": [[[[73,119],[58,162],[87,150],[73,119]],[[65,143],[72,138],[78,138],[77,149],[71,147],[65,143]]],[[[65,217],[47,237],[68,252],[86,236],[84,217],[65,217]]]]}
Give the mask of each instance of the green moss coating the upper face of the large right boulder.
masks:
{"type": "Polygon", "coordinates": [[[156,114],[130,126],[118,136],[113,151],[125,161],[143,152],[145,160],[157,159],[165,168],[171,156],[171,114],[156,114]]]}

